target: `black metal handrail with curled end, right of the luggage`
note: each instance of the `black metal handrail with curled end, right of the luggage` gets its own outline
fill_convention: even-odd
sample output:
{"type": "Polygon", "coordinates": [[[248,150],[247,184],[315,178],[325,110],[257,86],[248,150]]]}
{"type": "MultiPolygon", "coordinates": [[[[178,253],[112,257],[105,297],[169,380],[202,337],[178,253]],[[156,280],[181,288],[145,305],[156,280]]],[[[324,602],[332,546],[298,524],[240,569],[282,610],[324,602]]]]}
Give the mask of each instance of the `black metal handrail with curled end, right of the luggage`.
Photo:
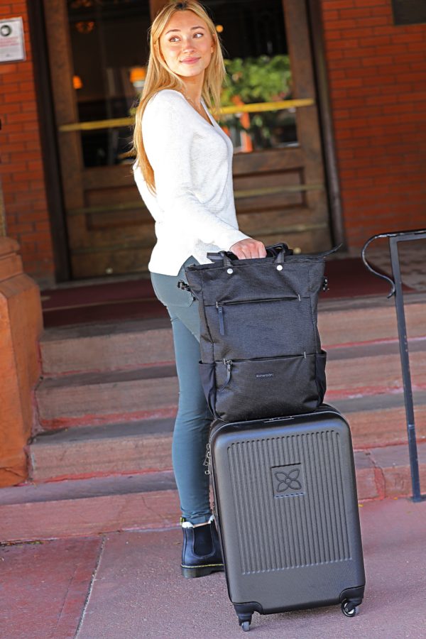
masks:
{"type": "Polygon", "coordinates": [[[408,339],[407,339],[407,326],[405,324],[405,312],[404,312],[404,297],[403,297],[403,283],[401,280],[401,271],[399,263],[398,242],[407,242],[419,239],[426,239],[426,229],[418,229],[417,231],[398,231],[395,233],[381,233],[373,235],[366,241],[362,249],[362,259],[364,264],[368,268],[368,271],[377,275],[383,280],[387,280],[391,285],[391,292],[388,297],[395,296],[395,309],[396,320],[398,322],[398,338],[400,346],[400,359],[401,368],[403,371],[403,387],[404,387],[404,401],[405,401],[405,417],[407,420],[407,434],[408,434],[408,452],[410,454],[410,468],[411,468],[411,484],[413,486],[413,501],[423,501],[426,496],[422,496],[420,491],[420,473],[419,462],[417,457],[417,442],[415,439],[415,420],[414,420],[414,403],[413,403],[413,388],[411,386],[410,375],[410,359],[408,356],[408,339]],[[366,259],[366,250],[371,242],[375,239],[387,238],[389,240],[389,251],[391,252],[391,265],[392,265],[392,278],[383,273],[378,273],[368,263],[366,259]]]}

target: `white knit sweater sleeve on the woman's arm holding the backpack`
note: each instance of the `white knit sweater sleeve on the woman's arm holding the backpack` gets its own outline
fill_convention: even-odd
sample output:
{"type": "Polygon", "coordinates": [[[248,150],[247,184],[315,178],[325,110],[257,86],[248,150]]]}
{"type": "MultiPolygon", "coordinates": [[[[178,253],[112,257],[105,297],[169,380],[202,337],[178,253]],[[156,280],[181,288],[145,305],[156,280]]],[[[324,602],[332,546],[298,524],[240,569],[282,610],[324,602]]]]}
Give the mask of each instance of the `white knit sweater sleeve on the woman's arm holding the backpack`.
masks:
{"type": "Polygon", "coordinates": [[[247,236],[209,212],[195,195],[191,165],[200,161],[191,157],[195,132],[185,120],[185,104],[181,106],[177,100],[182,98],[157,94],[143,114],[143,144],[153,167],[158,204],[165,222],[177,234],[190,229],[191,234],[205,244],[215,244],[228,251],[247,236]]]}

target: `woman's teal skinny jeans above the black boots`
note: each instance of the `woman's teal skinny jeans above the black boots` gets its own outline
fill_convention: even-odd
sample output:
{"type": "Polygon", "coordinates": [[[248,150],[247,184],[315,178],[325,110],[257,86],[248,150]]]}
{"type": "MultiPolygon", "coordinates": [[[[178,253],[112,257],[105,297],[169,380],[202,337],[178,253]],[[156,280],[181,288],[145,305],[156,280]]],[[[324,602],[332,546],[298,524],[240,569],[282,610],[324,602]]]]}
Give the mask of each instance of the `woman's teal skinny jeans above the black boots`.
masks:
{"type": "Polygon", "coordinates": [[[178,289],[185,282],[185,266],[197,263],[190,257],[178,275],[151,273],[158,300],[170,315],[179,381],[178,415],[172,443],[172,462],[180,498],[182,517],[192,524],[204,523],[212,514],[209,499],[209,476],[204,459],[212,413],[202,390],[200,361],[200,315],[198,302],[191,293],[178,289]]]}

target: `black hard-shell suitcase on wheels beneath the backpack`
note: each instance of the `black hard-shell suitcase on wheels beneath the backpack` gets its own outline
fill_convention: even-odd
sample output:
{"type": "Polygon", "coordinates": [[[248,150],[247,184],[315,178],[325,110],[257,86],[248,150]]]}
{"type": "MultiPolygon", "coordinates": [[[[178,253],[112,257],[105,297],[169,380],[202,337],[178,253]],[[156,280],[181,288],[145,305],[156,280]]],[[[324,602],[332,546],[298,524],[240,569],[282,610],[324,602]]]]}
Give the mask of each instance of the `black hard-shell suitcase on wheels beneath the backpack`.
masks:
{"type": "Polygon", "coordinates": [[[364,561],[349,425],[315,413],[214,422],[207,447],[229,598],[261,614],[340,603],[354,616],[364,561]]]}

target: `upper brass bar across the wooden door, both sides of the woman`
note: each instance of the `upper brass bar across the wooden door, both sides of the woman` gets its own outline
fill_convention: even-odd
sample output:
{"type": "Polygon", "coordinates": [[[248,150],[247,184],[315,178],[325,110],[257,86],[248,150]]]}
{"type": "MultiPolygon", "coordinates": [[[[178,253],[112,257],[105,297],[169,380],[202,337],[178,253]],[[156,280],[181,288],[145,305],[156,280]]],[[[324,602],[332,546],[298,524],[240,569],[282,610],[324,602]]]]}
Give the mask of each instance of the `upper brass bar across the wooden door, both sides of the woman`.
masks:
{"type": "MultiPolygon", "coordinates": [[[[219,115],[231,115],[238,113],[260,113],[263,111],[283,111],[287,109],[300,109],[301,107],[312,107],[315,100],[312,98],[300,98],[295,100],[279,100],[277,102],[256,102],[255,104],[236,104],[233,107],[222,107],[218,110],[219,115]]],[[[126,118],[110,118],[108,120],[94,120],[89,122],[72,122],[71,124],[61,124],[58,126],[60,133],[70,133],[70,131],[95,131],[97,129],[116,129],[120,126],[133,126],[135,119],[133,116],[126,118]]]]}

